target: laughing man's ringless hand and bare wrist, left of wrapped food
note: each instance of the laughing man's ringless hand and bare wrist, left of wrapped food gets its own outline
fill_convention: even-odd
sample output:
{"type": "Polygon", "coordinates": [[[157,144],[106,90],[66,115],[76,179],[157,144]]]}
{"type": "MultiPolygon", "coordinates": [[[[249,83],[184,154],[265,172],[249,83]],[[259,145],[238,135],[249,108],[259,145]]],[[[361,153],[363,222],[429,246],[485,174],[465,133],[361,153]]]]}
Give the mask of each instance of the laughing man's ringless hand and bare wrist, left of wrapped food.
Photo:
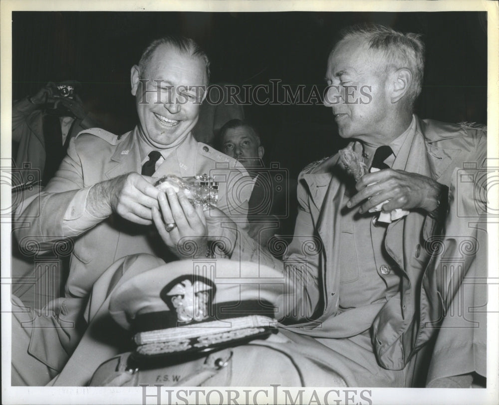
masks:
{"type": "Polygon", "coordinates": [[[129,221],[152,224],[151,208],[159,208],[159,190],[154,179],[138,173],[128,173],[94,185],[87,196],[87,209],[98,217],[116,212],[129,221]]]}

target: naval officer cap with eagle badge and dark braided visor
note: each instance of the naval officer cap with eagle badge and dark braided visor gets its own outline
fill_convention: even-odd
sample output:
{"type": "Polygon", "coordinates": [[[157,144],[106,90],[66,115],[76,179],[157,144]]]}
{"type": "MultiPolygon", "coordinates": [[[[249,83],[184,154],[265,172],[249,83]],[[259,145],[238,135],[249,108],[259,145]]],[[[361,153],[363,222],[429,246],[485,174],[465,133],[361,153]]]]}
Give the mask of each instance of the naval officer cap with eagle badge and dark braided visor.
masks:
{"type": "Polygon", "coordinates": [[[132,332],[137,364],[185,361],[268,337],[288,289],[281,272],[257,263],[175,261],[120,285],[109,312],[132,332]]]}

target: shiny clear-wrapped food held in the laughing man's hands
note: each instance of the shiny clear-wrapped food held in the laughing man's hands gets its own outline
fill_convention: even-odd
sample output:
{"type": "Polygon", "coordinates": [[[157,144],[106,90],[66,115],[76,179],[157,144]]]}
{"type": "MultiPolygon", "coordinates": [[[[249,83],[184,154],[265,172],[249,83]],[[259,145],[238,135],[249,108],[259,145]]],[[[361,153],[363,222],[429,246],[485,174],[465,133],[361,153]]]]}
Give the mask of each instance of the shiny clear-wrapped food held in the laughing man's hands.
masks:
{"type": "Polygon", "coordinates": [[[163,176],[154,186],[165,192],[173,189],[175,193],[180,190],[194,206],[202,206],[206,211],[211,205],[216,206],[218,200],[218,184],[206,174],[195,176],[192,181],[187,181],[175,175],[163,176]]]}

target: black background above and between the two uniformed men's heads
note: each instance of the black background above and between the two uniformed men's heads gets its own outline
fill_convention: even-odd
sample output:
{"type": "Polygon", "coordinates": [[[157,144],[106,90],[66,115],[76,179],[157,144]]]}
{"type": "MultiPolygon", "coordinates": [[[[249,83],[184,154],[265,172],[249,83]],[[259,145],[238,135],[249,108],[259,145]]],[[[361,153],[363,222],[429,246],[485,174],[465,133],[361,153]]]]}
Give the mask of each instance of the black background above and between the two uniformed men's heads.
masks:
{"type": "MultiPolygon", "coordinates": [[[[211,59],[212,83],[324,86],[326,60],[339,29],[383,23],[423,34],[426,65],[416,106],[421,118],[487,120],[485,12],[25,12],[12,13],[12,91],[18,99],[48,81],[78,80],[92,110],[117,132],[136,122],[130,67],[165,34],[194,38],[211,59]]],[[[296,176],[344,144],[331,110],[321,105],[246,107],[260,129],[266,160],[296,176]]]]}

